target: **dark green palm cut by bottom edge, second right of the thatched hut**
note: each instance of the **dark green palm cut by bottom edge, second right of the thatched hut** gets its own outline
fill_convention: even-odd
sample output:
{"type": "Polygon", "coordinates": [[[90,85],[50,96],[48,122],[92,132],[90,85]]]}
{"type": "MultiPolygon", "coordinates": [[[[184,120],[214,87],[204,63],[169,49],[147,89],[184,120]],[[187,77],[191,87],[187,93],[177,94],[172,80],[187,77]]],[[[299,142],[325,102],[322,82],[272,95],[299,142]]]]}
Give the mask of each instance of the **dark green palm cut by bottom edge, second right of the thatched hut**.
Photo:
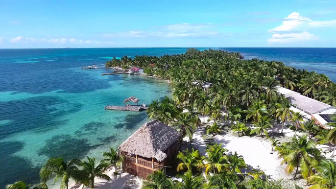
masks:
{"type": "Polygon", "coordinates": [[[207,189],[238,189],[236,181],[239,177],[231,171],[222,171],[208,178],[207,189]]]}

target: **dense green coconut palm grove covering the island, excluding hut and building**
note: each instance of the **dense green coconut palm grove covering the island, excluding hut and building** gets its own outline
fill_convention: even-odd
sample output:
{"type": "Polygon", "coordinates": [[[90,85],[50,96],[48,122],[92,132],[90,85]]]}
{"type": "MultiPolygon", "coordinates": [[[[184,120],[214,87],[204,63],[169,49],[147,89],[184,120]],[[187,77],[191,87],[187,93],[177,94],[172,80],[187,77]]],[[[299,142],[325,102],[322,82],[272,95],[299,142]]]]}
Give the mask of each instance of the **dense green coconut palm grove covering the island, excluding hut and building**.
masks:
{"type": "MultiPolygon", "coordinates": [[[[147,75],[170,81],[172,97],[154,100],[146,113],[149,119],[158,119],[179,131],[183,145],[192,142],[197,130],[204,129],[205,154],[181,147],[171,167],[150,174],[142,189],[336,188],[336,162],[331,159],[334,153],[326,156],[336,148],[336,115],[328,127],[314,120],[304,121],[290,109],[290,100],[278,93],[281,86],[336,106],[336,84],[326,75],[282,62],[245,60],[240,53],[193,48],[178,55],[113,58],[106,67],[139,67],[147,75]],[[205,89],[204,83],[211,86],[205,89]],[[275,125],[281,125],[279,132],[268,132],[275,125]],[[283,141],[286,128],[294,135],[283,141]],[[247,165],[239,152],[229,153],[224,144],[213,140],[228,132],[239,138],[267,140],[271,153],[286,166],[292,185],[268,178],[263,169],[247,165]],[[321,149],[318,145],[329,147],[321,149]],[[303,184],[296,185],[297,181],[303,184]]],[[[70,180],[76,183],[72,189],[82,185],[95,188],[96,178],[111,179],[105,174],[107,170],[113,168],[118,177],[123,161],[118,149],[107,149],[101,155],[101,162],[95,157],[85,161],[50,158],[40,171],[40,185],[18,181],[6,189],[47,189],[49,180],[60,183],[60,189],[70,189],[70,180]]]]}

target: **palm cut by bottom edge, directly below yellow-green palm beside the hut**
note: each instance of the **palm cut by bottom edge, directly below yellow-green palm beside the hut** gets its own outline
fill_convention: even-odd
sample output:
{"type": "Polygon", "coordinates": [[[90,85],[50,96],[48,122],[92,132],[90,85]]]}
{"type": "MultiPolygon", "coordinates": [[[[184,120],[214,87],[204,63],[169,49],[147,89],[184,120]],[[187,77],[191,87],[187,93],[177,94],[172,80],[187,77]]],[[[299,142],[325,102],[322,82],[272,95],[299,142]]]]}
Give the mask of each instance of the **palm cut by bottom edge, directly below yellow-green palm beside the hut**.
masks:
{"type": "Polygon", "coordinates": [[[203,189],[204,180],[202,177],[193,177],[192,171],[188,170],[183,175],[176,175],[183,182],[176,182],[176,189],[203,189]]]}

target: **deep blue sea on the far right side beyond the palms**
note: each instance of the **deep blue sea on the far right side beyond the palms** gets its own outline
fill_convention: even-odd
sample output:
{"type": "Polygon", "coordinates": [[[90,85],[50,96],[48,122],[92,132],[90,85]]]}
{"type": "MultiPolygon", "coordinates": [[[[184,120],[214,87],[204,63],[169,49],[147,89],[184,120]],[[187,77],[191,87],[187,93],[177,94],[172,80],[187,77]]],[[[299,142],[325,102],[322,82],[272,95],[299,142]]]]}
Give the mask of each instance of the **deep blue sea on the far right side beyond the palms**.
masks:
{"type": "Polygon", "coordinates": [[[287,66],[326,74],[336,82],[336,48],[219,48],[246,59],[284,62],[287,66]]]}

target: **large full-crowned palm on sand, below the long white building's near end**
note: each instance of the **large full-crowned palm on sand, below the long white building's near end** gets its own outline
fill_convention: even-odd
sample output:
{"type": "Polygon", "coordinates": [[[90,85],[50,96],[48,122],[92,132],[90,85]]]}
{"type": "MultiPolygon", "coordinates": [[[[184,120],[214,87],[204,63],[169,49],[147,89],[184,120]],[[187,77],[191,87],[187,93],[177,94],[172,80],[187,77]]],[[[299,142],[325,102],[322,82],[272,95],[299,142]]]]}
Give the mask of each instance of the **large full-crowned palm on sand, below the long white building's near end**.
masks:
{"type": "Polygon", "coordinates": [[[320,151],[315,147],[315,143],[308,140],[307,135],[294,136],[291,142],[284,142],[281,146],[283,149],[279,151],[279,157],[283,157],[283,163],[288,163],[287,172],[292,173],[296,167],[293,180],[296,178],[299,166],[305,177],[312,174],[312,165],[317,165],[315,157],[321,155],[320,151]]]}

